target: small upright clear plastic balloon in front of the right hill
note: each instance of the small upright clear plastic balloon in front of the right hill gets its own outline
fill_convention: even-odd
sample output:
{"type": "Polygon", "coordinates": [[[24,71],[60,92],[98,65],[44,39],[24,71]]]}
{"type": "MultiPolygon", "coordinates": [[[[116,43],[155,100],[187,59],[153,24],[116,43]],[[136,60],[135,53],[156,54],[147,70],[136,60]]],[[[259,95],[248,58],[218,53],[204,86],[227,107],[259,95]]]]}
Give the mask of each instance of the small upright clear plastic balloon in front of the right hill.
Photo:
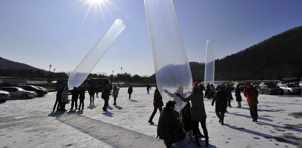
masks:
{"type": "Polygon", "coordinates": [[[205,53],[205,71],[204,71],[204,85],[207,83],[214,84],[215,72],[215,40],[209,39],[206,41],[205,53]]]}

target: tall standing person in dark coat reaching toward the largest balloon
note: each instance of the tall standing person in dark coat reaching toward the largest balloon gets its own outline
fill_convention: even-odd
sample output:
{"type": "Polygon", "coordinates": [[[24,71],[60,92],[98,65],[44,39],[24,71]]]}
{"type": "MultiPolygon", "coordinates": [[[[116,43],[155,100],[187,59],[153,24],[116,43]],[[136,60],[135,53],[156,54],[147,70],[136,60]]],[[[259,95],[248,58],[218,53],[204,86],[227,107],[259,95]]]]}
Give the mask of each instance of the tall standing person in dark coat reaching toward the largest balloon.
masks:
{"type": "Polygon", "coordinates": [[[201,127],[204,133],[205,137],[205,146],[208,146],[208,133],[206,129],[206,124],[205,124],[205,119],[206,119],[206,113],[204,109],[204,102],[203,102],[203,92],[200,89],[200,86],[198,85],[198,82],[194,82],[193,84],[193,91],[191,95],[187,98],[184,98],[180,94],[176,94],[182,101],[184,102],[189,102],[191,101],[192,103],[192,108],[191,108],[191,119],[193,120],[193,127],[194,127],[194,136],[196,140],[196,146],[201,147],[199,143],[199,122],[201,123],[201,127]]]}

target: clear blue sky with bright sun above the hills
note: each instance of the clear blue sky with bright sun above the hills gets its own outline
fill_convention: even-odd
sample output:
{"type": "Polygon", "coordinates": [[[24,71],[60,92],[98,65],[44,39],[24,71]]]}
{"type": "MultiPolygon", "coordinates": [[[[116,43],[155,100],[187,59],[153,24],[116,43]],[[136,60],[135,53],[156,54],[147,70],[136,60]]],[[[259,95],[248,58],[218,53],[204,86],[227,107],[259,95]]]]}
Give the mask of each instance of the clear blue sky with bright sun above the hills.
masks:
{"type": "MultiPolygon", "coordinates": [[[[154,74],[144,0],[0,0],[0,57],[73,71],[116,19],[126,28],[92,73],[154,74]]],[[[205,62],[302,26],[302,0],[173,0],[189,62],[205,62]]],[[[164,24],[163,24],[164,25],[164,24]]],[[[257,57],[255,57],[257,58],[257,57]]]]}

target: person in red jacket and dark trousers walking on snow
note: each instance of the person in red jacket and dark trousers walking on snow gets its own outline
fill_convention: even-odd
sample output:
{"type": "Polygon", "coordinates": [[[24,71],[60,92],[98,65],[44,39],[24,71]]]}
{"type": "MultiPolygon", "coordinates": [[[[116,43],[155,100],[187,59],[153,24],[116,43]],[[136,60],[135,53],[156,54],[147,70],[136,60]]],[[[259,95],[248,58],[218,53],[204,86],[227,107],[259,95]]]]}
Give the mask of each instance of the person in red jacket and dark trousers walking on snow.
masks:
{"type": "Polygon", "coordinates": [[[255,89],[251,83],[247,83],[247,86],[244,87],[244,95],[247,97],[248,105],[250,107],[250,112],[252,116],[252,121],[257,122],[258,119],[258,90],[255,89]]]}

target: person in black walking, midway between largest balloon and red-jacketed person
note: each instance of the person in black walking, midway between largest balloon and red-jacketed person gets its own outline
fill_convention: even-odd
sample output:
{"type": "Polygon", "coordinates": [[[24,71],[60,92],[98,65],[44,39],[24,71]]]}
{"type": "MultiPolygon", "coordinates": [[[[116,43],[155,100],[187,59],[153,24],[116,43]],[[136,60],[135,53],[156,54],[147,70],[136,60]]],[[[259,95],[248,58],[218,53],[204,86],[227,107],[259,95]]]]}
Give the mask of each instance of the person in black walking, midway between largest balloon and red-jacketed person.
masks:
{"type": "Polygon", "coordinates": [[[222,90],[221,86],[218,86],[216,89],[217,92],[213,98],[212,106],[214,106],[214,102],[216,101],[215,112],[219,118],[219,123],[221,122],[221,125],[223,125],[224,113],[228,107],[228,96],[222,90]]]}

